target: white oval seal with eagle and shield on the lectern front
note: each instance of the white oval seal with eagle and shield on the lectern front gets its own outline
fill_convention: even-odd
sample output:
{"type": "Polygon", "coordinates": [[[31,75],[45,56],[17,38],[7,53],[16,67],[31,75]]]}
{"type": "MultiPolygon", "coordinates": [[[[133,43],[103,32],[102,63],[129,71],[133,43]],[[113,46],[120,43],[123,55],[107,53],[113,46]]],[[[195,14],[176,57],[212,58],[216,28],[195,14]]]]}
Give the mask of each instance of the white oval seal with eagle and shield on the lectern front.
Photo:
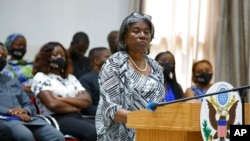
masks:
{"type": "Polygon", "coordinates": [[[201,105],[200,126],[204,141],[229,141],[230,125],[241,124],[241,100],[238,92],[223,91],[233,87],[217,82],[207,91],[218,95],[205,97],[201,105]]]}

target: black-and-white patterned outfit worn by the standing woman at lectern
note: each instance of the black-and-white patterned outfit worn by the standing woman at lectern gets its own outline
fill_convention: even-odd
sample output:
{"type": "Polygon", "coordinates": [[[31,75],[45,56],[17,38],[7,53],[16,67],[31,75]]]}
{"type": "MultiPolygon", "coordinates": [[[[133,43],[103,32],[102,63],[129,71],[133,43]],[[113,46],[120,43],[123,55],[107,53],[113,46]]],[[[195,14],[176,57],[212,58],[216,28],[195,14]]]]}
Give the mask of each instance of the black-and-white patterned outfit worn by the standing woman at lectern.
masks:
{"type": "Polygon", "coordinates": [[[118,109],[144,109],[149,100],[164,101],[163,73],[159,64],[144,56],[151,73],[142,77],[128,64],[128,54],[117,52],[109,57],[99,73],[100,101],[96,112],[98,141],[132,141],[134,130],[115,123],[118,109]]]}

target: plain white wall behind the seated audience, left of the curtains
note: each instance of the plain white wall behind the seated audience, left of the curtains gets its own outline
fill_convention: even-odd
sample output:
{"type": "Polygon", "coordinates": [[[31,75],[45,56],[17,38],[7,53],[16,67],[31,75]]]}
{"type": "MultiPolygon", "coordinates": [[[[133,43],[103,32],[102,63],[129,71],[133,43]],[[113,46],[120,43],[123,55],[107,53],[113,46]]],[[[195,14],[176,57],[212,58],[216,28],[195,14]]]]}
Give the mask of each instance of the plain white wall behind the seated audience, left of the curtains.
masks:
{"type": "Polygon", "coordinates": [[[90,48],[108,46],[107,34],[119,29],[122,20],[133,11],[134,3],[133,0],[0,0],[0,41],[5,42],[12,33],[23,34],[27,39],[25,58],[29,60],[48,41],[59,41],[68,48],[78,31],[89,35],[90,48]]]}

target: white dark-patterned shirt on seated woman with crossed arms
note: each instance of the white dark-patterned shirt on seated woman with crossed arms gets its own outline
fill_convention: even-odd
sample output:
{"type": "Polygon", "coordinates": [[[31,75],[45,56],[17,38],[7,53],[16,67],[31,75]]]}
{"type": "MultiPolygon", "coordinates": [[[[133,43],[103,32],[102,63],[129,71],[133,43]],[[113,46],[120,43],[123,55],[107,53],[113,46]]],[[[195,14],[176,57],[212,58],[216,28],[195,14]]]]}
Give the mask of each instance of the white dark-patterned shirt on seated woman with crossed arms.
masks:
{"type": "MultiPolygon", "coordinates": [[[[82,87],[81,83],[72,74],[69,74],[67,78],[62,78],[60,75],[38,72],[33,78],[31,90],[36,97],[41,91],[45,90],[51,91],[55,96],[75,97],[79,91],[84,91],[85,88],[82,87]]],[[[36,98],[36,103],[40,114],[54,114],[54,112],[47,109],[47,107],[41,103],[38,97],[36,98]]]]}

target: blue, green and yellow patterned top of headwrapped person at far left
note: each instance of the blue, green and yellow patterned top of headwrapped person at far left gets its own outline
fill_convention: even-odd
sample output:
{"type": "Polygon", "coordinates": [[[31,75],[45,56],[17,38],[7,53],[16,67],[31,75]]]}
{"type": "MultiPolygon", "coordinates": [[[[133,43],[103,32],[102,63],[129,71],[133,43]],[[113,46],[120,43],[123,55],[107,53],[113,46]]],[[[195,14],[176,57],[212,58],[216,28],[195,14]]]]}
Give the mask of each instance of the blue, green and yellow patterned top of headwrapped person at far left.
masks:
{"type": "Polygon", "coordinates": [[[2,74],[19,80],[23,86],[31,85],[32,83],[33,62],[26,60],[9,60],[2,74]]]}

